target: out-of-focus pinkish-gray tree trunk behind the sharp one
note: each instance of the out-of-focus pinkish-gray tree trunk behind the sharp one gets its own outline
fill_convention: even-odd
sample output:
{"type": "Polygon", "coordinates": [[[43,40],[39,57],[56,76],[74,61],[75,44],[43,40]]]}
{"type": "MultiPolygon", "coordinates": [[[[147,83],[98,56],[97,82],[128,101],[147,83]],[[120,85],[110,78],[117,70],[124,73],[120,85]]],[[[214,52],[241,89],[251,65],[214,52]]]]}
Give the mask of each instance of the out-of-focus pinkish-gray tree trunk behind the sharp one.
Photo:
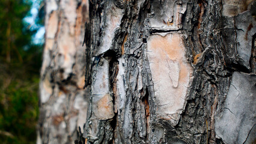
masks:
{"type": "Polygon", "coordinates": [[[87,115],[85,22],[87,0],[47,0],[37,143],[74,143],[87,115]]]}

